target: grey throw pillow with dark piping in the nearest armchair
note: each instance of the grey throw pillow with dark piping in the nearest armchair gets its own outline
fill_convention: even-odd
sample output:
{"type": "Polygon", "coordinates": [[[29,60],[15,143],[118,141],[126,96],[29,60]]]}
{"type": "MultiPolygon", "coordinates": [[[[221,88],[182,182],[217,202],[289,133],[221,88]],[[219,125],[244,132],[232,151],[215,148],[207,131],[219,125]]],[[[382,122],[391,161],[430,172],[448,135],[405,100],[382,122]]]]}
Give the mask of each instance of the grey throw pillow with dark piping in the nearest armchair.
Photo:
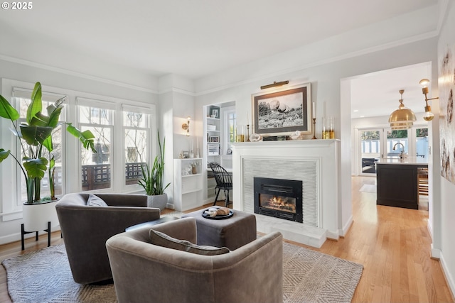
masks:
{"type": "Polygon", "coordinates": [[[178,240],[166,235],[166,233],[154,231],[153,229],[150,230],[150,240],[152,244],[157,246],[183,250],[198,255],[223,255],[223,253],[229,253],[230,251],[227,247],[198,246],[190,241],[178,240]]]}

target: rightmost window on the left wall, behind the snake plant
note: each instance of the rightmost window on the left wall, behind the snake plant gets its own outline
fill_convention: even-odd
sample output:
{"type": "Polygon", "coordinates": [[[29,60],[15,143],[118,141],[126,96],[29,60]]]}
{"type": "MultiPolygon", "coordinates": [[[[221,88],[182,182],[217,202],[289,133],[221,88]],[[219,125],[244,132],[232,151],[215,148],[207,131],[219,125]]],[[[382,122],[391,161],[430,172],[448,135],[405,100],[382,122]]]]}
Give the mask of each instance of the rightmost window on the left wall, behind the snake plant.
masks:
{"type": "Polygon", "coordinates": [[[149,114],[124,108],[125,185],[137,184],[149,159],[149,114]]]}

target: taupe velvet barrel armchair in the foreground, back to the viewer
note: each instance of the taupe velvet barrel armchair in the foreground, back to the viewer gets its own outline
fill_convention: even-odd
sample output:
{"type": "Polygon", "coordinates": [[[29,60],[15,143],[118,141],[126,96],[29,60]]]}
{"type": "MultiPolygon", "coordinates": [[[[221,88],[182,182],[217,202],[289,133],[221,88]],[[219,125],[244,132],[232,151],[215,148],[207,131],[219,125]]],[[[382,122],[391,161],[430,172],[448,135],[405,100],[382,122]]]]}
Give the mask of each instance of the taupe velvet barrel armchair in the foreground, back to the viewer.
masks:
{"type": "Polygon", "coordinates": [[[282,302],[282,234],[236,250],[199,255],[152,244],[151,233],[196,243],[196,220],[183,218],[112,236],[106,242],[115,291],[124,302],[282,302]],[[151,231],[151,229],[153,231],[151,231]]]}

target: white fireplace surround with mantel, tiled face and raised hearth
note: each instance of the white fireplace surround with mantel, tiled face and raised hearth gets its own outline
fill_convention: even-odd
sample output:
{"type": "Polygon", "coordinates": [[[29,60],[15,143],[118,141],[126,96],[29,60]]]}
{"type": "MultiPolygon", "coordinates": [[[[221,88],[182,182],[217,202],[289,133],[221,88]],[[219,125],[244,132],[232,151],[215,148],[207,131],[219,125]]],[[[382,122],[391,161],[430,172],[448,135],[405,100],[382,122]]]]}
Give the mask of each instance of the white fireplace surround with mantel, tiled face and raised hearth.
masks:
{"type": "Polygon", "coordinates": [[[233,209],[255,214],[254,177],[301,180],[304,222],[255,214],[257,231],[320,248],[340,236],[340,141],[301,140],[232,144],[233,209]]]}

